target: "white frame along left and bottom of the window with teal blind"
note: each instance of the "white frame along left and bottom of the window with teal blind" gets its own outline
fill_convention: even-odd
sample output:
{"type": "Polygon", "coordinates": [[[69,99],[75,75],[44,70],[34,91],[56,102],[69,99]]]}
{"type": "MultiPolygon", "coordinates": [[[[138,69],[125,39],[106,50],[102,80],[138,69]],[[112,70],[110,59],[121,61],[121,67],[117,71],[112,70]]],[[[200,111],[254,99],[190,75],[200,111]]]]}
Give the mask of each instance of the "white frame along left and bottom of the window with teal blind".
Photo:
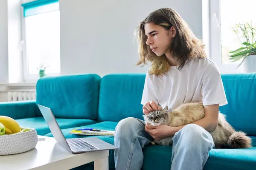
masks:
{"type": "MultiPolygon", "coordinates": [[[[32,2],[35,0],[22,0],[21,3],[28,3],[32,2]]],[[[25,17],[24,17],[24,10],[23,7],[20,6],[21,8],[21,62],[22,62],[22,76],[23,76],[23,82],[36,82],[40,77],[39,77],[39,72],[38,74],[29,74],[29,60],[26,55],[26,22],[25,22],[25,17]]],[[[49,73],[47,76],[59,76],[61,73],[49,73]]]]}

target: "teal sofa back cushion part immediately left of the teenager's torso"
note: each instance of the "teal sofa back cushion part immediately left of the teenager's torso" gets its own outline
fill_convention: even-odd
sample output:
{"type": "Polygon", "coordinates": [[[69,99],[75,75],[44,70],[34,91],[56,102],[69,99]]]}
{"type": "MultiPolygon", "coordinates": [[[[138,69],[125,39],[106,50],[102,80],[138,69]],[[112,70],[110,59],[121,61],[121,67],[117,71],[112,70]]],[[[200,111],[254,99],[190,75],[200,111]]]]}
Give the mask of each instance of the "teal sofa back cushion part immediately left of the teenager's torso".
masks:
{"type": "Polygon", "coordinates": [[[145,74],[108,74],[102,77],[98,121],[119,122],[126,117],[143,119],[140,104],[145,74]]]}

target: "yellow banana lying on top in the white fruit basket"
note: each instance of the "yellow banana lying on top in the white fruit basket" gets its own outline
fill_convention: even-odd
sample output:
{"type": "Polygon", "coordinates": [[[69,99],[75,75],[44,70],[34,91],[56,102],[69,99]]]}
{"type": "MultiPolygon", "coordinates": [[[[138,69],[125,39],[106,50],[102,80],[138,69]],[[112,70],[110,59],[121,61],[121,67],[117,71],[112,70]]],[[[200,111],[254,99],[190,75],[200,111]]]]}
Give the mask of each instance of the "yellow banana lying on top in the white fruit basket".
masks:
{"type": "Polygon", "coordinates": [[[11,117],[0,116],[0,123],[2,123],[4,125],[4,127],[7,129],[8,133],[20,132],[20,125],[15,121],[15,119],[12,119],[11,117]]]}

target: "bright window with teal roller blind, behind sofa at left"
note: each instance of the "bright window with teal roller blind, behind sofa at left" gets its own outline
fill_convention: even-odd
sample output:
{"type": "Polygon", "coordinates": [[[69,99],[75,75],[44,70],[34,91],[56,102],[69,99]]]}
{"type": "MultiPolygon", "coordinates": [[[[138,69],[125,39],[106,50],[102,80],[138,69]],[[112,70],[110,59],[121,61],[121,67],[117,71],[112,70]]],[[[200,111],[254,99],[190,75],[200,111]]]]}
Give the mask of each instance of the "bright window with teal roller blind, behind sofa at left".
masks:
{"type": "Polygon", "coordinates": [[[47,75],[60,73],[60,12],[58,0],[23,3],[23,78],[39,78],[38,68],[47,75]]]}

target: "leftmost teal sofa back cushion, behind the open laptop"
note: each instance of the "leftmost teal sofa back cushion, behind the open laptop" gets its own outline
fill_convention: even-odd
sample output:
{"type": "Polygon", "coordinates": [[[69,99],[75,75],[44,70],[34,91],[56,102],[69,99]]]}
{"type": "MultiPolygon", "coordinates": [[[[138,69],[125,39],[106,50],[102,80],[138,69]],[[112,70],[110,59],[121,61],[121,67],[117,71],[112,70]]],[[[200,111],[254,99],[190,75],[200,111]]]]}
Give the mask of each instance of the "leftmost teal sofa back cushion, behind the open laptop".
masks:
{"type": "Polygon", "coordinates": [[[96,74],[41,78],[36,102],[51,108],[56,118],[97,119],[100,79],[96,74]]]}

